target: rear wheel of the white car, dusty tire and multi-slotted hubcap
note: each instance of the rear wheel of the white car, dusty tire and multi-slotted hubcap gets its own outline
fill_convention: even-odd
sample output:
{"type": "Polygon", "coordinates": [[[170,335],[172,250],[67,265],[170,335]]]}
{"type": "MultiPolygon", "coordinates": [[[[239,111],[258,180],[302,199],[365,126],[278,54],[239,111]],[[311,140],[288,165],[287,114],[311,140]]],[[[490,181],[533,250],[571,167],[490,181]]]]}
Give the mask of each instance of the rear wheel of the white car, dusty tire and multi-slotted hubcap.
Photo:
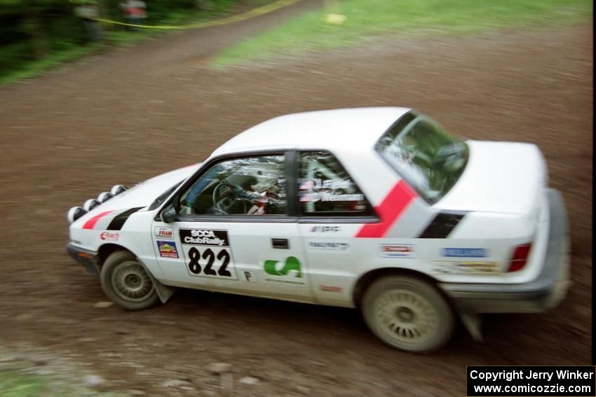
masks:
{"type": "Polygon", "coordinates": [[[364,319],[374,335],[391,347],[428,353],[451,338],[454,314],[435,286],[416,277],[386,276],[365,291],[364,319]]]}

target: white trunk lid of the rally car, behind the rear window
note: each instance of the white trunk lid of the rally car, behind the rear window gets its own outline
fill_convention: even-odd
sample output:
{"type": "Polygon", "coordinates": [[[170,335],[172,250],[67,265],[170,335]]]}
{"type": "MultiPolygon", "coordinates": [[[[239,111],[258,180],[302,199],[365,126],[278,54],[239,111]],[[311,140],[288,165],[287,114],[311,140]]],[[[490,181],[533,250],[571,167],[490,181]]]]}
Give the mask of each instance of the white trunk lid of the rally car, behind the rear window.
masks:
{"type": "Polygon", "coordinates": [[[536,145],[468,141],[470,157],[459,181],[434,207],[536,215],[547,185],[536,145]]]}

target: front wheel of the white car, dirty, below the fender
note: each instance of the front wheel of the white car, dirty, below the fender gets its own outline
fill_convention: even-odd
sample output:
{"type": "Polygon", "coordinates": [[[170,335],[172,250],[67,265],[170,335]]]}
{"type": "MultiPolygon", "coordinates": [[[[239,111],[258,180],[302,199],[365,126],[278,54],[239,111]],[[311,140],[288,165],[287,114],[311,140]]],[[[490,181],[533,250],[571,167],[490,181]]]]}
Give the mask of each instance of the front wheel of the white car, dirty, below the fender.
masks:
{"type": "Polygon", "coordinates": [[[102,266],[100,279],[104,293],[124,309],[148,309],[159,303],[151,277],[128,251],[112,253],[102,266]]]}

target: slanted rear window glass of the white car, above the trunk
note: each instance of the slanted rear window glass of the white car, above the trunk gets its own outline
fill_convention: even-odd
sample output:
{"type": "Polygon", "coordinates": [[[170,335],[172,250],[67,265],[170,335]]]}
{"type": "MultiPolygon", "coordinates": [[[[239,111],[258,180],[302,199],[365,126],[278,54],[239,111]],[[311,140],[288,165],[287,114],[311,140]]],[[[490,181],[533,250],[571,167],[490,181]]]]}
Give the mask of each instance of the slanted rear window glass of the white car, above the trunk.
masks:
{"type": "Polygon", "coordinates": [[[377,151],[430,204],[447,194],[468,163],[468,145],[414,113],[379,139],[377,151]]]}

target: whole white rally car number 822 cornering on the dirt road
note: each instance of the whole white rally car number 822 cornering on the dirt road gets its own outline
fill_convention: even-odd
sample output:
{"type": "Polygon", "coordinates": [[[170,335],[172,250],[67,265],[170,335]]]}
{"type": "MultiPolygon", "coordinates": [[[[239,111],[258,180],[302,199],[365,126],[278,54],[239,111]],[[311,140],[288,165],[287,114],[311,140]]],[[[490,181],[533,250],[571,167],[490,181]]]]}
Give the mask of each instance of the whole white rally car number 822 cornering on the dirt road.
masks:
{"type": "Polygon", "coordinates": [[[407,351],[447,342],[456,314],[479,338],[478,314],[543,312],[569,284],[539,148],[398,107],[273,118],[68,218],[68,252],[126,309],[176,287],[358,307],[407,351]]]}

